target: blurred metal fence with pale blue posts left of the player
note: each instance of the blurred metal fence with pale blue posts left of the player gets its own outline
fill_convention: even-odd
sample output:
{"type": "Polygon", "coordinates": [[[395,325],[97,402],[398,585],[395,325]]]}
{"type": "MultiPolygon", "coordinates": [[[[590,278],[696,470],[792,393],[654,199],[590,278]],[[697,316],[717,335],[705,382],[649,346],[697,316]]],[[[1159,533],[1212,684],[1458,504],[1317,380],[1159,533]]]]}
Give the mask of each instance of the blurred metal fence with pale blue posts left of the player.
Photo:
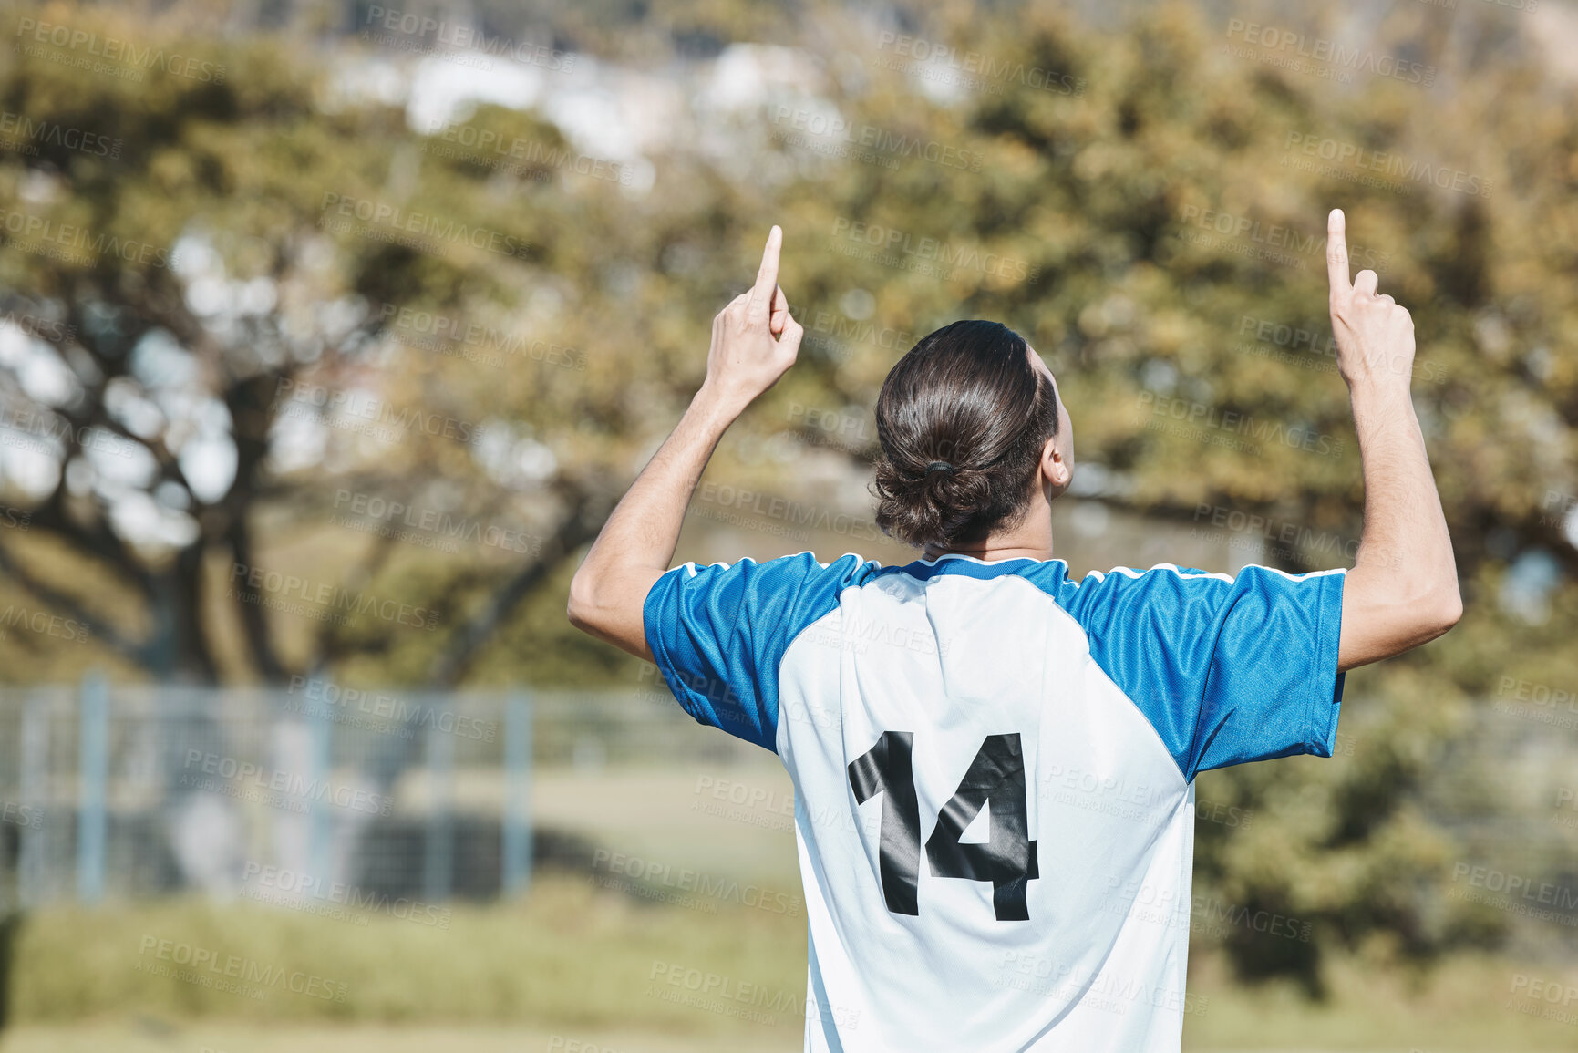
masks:
{"type": "Polygon", "coordinates": [[[525,890],[533,764],[727,761],[638,691],[80,685],[0,690],[0,897],[204,890],[352,905],[525,890]],[[5,744],[9,744],[8,747],[5,744]]]}

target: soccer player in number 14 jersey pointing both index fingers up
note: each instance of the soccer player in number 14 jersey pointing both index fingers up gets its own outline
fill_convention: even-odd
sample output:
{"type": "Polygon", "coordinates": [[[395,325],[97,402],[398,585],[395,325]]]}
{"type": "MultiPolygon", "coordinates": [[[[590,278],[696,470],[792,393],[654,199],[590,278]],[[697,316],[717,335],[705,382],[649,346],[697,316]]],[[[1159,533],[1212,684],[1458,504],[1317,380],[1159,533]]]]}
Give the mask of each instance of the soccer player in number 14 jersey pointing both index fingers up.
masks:
{"type": "Polygon", "coordinates": [[[1354,567],[1083,581],[1053,557],[1049,502],[1073,475],[1057,384],[980,320],[915,344],[876,404],[877,524],[925,559],[669,568],[713,447],[800,346],[772,229],[568,614],[789,770],[806,1050],[1176,1051],[1195,775],[1330,756],[1344,671],[1461,616],[1409,399],[1414,324],[1374,272],[1349,283],[1343,224],[1333,210],[1327,265],[1363,459],[1354,567]]]}

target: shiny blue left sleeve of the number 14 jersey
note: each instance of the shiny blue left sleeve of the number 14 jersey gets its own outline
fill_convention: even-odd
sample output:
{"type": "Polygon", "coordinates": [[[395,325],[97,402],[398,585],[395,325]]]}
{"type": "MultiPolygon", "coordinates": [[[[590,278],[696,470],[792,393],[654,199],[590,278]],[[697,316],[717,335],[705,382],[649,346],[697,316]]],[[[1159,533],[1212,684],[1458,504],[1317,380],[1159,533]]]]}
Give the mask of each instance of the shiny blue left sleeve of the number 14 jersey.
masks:
{"type": "Polygon", "coordinates": [[[778,663],[865,567],[854,554],[824,565],[811,553],[683,564],[647,592],[647,646],[685,712],[776,751],[778,663]]]}

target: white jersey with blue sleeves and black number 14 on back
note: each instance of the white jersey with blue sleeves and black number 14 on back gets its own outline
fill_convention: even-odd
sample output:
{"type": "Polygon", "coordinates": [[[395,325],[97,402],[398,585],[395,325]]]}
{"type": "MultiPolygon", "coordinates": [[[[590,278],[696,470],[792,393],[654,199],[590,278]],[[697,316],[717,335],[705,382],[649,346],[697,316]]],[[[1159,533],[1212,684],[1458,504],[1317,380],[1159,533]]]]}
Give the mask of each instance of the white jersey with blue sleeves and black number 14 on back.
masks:
{"type": "Polygon", "coordinates": [[[1174,1053],[1195,775],[1330,756],[1343,571],[811,553],[664,573],[647,644],[795,788],[806,1050],[1174,1053]]]}

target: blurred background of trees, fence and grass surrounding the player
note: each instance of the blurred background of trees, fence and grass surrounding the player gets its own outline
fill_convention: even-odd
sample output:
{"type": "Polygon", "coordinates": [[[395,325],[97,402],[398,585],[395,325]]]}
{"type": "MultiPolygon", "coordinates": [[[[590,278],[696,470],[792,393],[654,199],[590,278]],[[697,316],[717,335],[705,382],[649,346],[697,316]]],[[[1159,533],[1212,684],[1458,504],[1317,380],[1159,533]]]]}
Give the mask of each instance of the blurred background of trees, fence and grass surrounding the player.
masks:
{"type": "Polygon", "coordinates": [[[1305,571],[1332,207],[1468,613],[1199,778],[1185,1048],[1578,1048],[1578,5],[0,11],[0,1050],[800,1048],[787,777],[565,620],[768,226],[675,562],[914,559],[871,406],[991,317],[1076,575],[1305,571]]]}

